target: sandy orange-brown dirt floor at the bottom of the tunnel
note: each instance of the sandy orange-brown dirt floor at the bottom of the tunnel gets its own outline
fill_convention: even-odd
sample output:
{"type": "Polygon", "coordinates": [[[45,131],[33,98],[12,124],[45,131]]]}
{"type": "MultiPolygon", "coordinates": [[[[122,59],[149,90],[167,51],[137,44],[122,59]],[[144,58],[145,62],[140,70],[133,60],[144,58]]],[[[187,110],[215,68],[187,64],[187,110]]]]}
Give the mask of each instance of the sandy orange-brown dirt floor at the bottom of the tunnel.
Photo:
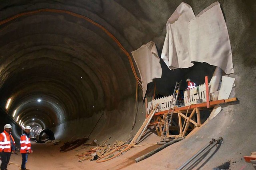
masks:
{"type": "MultiPolygon", "coordinates": [[[[156,144],[159,140],[159,137],[157,137],[154,134],[151,134],[146,139],[142,139],[142,142],[139,145],[144,144],[156,144]]],[[[134,147],[130,150],[128,150],[125,154],[118,156],[117,158],[114,158],[112,160],[97,163],[96,161],[90,161],[86,160],[83,162],[78,162],[78,158],[76,158],[76,153],[82,153],[86,150],[89,150],[88,147],[86,149],[82,149],[79,151],[75,151],[77,149],[80,149],[84,146],[80,146],[74,150],[70,150],[68,152],[60,152],[60,146],[62,146],[63,143],[60,143],[59,145],[53,145],[53,143],[44,143],[39,144],[32,142],[32,149],[33,153],[28,156],[28,162],[26,163],[26,168],[28,170],[79,170],[79,169],[95,169],[95,170],[120,170],[120,169],[134,169],[133,167],[130,167],[132,164],[135,164],[136,162],[135,158],[142,156],[143,154],[146,154],[150,152],[151,150],[156,149],[157,147],[160,147],[161,145],[145,145],[142,147],[134,147]]],[[[17,165],[20,166],[22,162],[21,154],[12,154],[10,158],[10,162],[14,164],[8,165],[8,170],[18,170],[20,169],[17,165]]],[[[158,166],[158,165],[150,165],[150,162],[144,160],[143,165],[139,166],[139,169],[169,169],[164,166],[158,166]]]]}

